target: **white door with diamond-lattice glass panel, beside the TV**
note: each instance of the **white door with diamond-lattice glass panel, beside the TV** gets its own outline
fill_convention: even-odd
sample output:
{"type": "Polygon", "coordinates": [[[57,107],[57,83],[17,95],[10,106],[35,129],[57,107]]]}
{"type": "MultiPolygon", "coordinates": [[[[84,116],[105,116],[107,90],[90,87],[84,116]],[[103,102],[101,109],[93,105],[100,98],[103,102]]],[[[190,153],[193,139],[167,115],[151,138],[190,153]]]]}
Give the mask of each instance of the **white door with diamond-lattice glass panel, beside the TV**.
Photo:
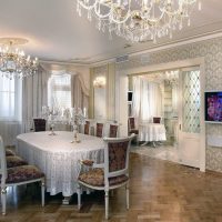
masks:
{"type": "Polygon", "coordinates": [[[201,167],[201,113],[203,110],[200,68],[180,71],[179,161],[201,167]]]}

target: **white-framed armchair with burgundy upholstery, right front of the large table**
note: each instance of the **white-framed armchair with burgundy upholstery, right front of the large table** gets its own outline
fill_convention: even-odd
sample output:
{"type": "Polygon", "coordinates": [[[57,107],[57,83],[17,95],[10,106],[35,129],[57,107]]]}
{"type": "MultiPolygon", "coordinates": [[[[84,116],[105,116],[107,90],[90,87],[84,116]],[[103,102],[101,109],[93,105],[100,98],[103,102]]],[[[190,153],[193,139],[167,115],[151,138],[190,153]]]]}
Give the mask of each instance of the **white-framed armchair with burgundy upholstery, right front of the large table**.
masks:
{"type": "Polygon", "coordinates": [[[129,149],[134,134],[128,138],[103,138],[105,142],[104,162],[94,163],[81,160],[81,165],[89,167],[80,171],[78,178],[78,208],[81,208],[81,186],[103,190],[105,193],[105,219],[109,218],[109,191],[120,186],[127,190],[127,209],[129,209],[129,149]]]}

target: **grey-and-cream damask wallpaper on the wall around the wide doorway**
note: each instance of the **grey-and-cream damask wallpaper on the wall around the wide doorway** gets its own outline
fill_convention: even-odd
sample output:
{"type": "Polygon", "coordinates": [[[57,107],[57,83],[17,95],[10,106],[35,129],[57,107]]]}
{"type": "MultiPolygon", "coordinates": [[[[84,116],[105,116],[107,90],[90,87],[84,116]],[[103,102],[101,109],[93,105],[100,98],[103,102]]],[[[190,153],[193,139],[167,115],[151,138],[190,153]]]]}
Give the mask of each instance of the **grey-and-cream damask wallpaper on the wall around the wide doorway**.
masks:
{"type": "MultiPolygon", "coordinates": [[[[128,62],[119,63],[117,70],[204,57],[205,90],[222,90],[222,38],[161,50],[143,54],[144,57],[147,60],[134,57],[128,62]]],[[[209,134],[222,135],[222,124],[206,124],[206,135],[209,134]]],[[[222,172],[222,148],[206,144],[206,169],[222,172]]]]}

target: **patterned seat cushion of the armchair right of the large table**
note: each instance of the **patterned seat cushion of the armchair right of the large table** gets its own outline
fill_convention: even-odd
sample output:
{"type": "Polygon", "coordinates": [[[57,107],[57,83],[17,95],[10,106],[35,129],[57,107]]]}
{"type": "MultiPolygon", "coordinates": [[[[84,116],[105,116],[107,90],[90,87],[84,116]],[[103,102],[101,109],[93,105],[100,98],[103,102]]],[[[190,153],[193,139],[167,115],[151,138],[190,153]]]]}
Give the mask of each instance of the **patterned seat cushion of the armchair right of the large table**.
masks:
{"type": "MultiPolygon", "coordinates": [[[[114,178],[109,179],[110,185],[118,185],[125,181],[128,181],[129,178],[127,175],[119,175],[114,178]]],[[[88,172],[81,173],[79,175],[79,181],[82,181],[83,183],[87,183],[89,185],[94,186],[104,186],[104,171],[103,169],[91,169],[88,172]]]]}

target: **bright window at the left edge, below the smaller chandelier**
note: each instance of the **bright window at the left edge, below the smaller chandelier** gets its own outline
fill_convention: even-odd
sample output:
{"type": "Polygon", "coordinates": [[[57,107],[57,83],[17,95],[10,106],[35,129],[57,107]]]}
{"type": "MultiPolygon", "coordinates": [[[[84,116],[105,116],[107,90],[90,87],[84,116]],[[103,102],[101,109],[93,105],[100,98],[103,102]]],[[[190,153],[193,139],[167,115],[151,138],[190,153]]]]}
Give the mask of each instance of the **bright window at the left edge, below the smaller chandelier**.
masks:
{"type": "Polygon", "coordinates": [[[21,119],[21,80],[0,74],[0,119],[21,119]]]}

